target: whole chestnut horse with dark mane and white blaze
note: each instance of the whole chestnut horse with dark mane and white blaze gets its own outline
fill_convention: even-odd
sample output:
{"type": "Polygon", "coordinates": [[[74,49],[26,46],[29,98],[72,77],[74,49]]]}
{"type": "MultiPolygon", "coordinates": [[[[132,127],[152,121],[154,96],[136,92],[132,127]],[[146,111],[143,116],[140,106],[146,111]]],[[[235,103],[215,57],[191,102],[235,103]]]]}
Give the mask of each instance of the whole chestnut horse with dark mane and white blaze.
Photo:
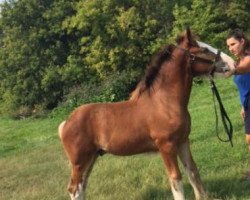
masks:
{"type": "Polygon", "coordinates": [[[190,151],[188,102],[193,77],[223,67],[227,64],[221,57],[199,46],[187,29],[177,45],[168,45],[155,55],[129,100],[78,107],[59,126],[72,165],[71,199],[85,198],[87,179],[99,155],[157,151],[175,200],[185,199],[177,156],[187,171],[195,199],[207,198],[190,151]]]}

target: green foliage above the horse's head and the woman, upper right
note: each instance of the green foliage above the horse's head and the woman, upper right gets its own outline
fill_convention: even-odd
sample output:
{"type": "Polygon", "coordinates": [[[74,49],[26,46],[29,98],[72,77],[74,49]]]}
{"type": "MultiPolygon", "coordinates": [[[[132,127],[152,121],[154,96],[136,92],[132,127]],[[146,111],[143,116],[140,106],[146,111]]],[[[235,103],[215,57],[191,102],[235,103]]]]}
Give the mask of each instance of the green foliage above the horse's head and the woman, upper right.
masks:
{"type": "Polygon", "coordinates": [[[172,37],[189,26],[199,39],[225,50],[225,38],[229,29],[249,30],[249,1],[192,0],[191,7],[175,5],[175,21],[172,37]],[[225,12],[227,10],[227,12],[225,12]],[[189,16],[189,17],[187,17],[189,16]]]}

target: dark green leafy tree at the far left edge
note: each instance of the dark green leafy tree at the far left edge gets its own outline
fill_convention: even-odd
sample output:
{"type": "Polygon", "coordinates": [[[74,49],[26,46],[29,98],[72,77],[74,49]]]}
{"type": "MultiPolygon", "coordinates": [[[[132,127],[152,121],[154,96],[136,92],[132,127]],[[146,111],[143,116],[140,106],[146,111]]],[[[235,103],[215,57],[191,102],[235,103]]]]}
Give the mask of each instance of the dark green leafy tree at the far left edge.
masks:
{"type": "Polygon", "coordinates": [[[69,51],[65,16],[73,13],[66,0],[9,1],[1,7],[1,108],[14,110],[43,104],[54,107],[62,96],[59,69],[69,51]]]}

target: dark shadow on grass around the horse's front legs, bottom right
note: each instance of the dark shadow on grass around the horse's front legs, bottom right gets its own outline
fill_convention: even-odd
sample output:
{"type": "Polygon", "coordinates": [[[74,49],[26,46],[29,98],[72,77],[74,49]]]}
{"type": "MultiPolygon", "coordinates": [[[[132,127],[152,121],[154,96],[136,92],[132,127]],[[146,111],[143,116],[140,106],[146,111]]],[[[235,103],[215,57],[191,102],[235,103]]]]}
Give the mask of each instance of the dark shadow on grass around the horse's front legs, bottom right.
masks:
{"type": "MultiPolygon", "coordinates": [[[[243,179],[220,179],[214,181],[205,181],[204,185],[213,198],[223,200],[248,200],[250,199],[250,181],[243,179]]],[[[189,183],[184,184],[185,196],[187,200],[193,200],[194,194],[189,183]]],[[[143,200],[163,200],[173,199],[169,188],[148,187],[140,199],[143,200]]]]}

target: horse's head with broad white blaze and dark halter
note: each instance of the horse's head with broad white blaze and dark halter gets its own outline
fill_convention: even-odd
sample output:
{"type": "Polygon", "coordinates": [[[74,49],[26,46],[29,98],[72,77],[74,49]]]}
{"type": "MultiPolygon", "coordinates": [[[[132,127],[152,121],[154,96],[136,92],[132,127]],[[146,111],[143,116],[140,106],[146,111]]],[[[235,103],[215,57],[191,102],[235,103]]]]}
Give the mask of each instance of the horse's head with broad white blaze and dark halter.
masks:
{"type": "Polygon", "coordinates": [[[219,50],[196,41],[189,28],[177,38],[177,43],[178,48],[182,49],[188,57],[188,66],[192,75],[213,75],[214,72],[224,73],[229,70],[228,62],[223,58],[225,54],[223,53],[222,56],[219,50]]]}

